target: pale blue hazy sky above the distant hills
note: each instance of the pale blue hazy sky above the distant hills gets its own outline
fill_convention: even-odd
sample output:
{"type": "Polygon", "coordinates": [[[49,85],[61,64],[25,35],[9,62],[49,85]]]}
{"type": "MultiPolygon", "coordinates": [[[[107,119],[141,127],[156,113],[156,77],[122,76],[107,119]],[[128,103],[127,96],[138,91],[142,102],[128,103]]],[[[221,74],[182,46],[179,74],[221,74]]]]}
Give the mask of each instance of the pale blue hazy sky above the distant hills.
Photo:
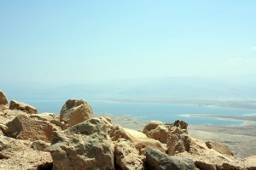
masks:
{"type": "Polygon", "coordinates": [[[256,75],[255,0],[0,0],[0,79],[256,75]]]}

